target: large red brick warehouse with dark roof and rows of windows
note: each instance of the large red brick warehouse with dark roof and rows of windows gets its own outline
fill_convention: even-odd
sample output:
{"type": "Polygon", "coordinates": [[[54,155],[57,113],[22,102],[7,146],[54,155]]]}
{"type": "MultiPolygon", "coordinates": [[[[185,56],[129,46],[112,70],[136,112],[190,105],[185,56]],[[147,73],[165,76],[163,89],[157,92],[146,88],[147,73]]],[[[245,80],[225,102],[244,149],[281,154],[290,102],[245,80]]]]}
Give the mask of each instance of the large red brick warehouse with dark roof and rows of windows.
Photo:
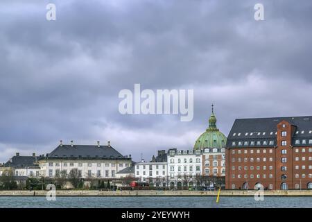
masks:
{"type": "Polygon", "coordinates": [[[312,189],[312,117],[236,119],[225,188],[312,189]]]}

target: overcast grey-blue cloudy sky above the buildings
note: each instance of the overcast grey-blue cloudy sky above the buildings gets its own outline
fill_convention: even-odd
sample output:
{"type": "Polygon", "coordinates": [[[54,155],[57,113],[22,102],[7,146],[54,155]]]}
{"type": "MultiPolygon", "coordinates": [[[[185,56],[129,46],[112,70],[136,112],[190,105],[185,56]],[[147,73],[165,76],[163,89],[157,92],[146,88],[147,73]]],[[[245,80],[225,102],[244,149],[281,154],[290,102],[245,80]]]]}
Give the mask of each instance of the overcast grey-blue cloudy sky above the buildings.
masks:
{"type": "Polygon", "coordinates": [[[236,118],[311,115],[311,12],[310,0],[1,0],[0,161],[60,139],[110,140],[135,161],[191,149],[211,103],[225,135],[236,118]],[[120,114],[135,83],[194,89],[193,121],[120,114]]]}

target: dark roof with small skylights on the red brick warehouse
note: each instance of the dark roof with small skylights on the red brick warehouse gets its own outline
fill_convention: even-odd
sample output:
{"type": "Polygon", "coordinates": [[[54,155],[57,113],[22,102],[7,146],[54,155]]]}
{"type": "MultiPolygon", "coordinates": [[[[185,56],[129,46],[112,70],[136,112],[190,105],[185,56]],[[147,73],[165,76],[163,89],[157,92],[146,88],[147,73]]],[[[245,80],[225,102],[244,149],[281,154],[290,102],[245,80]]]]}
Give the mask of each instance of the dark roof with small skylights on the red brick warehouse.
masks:
{"type": "MultiPolygon", "coordinates": [[[[267,141],[267,146],[276,146],[277,124],[281,121],[287,121],[295,126],[292,145],[296,146],[296,140],[312,139],[312,116],[306,117],[275,117],[258,119],[236,119],[232,129],[227,136],[227,147],[234,146],[233,142],[263,142],[267,141]],[[273,144],[269,144],[272,141],[273,144]]],[[[309,145],[307,143],[306,145],[309,145]]],[[[311,145],[311,144],[310,144],[311,145]]],[[[236,144],[237,146],[237,144],[236,144]]]]}

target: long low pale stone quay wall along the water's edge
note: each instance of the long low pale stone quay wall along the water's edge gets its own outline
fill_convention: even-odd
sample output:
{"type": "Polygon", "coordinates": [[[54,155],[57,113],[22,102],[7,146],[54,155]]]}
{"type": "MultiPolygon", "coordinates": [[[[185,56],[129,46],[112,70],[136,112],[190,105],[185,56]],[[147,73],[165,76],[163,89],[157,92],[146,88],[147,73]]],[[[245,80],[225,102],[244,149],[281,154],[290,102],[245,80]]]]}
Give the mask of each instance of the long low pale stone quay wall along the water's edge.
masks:
{"type": "MultiPolygon", "coordinates": [[[[46,196],[49,191],[0,191],[0,196],[46,196]]],[[[254,196],[256,190],[223,190],[220,196],[254,196]]],[[[49,195],[49,194],[48,194],[49,195]]],[[[58,190],[56,196],[217,196],[218,191],[97,191],[97,190],[58,190]]],[[[312,190],[270,190],[263,196],[312,196],[312,190]]]]}

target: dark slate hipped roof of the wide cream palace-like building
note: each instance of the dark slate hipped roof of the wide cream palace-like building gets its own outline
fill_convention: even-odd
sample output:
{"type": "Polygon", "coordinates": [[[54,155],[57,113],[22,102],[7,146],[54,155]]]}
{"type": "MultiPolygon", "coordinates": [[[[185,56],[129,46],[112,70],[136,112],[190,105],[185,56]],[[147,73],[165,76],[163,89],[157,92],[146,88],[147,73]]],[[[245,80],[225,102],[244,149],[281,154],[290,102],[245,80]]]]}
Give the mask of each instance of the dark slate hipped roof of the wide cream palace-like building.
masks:
{"type": "Polygon", "coordinates": [[[112,146],[59,145],[48,157],[123,158],[112,146]]]}

